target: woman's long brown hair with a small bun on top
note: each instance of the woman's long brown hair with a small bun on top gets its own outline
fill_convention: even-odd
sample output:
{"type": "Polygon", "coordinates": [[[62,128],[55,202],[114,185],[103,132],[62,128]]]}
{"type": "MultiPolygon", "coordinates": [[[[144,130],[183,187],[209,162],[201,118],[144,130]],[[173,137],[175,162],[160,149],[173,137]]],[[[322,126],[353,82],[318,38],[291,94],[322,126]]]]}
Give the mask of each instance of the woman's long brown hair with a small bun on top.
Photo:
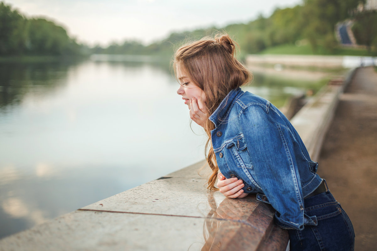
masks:
{"type": "MultiPolygon", "coordinates": [[[[199,41],[185,44],[176,50],[173,69],[184,67],[191,81],[205,94],[204,106],[207,118],[218,108],[227,94],[251,81],[250,71],[236,58],[236,46],[227,34],[217,34],[214,38],[204,37],[199,41]]],[[[213,152],[211,130],[215,125],[206,120],[204,131],[208,135],[205,144],[205,157],[212,173],[208,178],[208,189],[217,190],[215,182],[219,167],[213,152]]]]}

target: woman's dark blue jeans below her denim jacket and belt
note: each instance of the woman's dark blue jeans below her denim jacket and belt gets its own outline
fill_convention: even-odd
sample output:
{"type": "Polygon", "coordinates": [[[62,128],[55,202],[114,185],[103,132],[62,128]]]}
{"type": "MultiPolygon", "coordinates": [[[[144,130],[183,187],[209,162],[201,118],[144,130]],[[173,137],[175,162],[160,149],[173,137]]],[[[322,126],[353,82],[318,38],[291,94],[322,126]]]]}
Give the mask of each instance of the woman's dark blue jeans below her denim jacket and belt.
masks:
{"type": "Polygon", "coordinates": [[[290,250],[354,250],[355,233],[346,212],[328,192],[304,199],[305,213],[317,216],[318,225],[288,230],[290,250]]]}

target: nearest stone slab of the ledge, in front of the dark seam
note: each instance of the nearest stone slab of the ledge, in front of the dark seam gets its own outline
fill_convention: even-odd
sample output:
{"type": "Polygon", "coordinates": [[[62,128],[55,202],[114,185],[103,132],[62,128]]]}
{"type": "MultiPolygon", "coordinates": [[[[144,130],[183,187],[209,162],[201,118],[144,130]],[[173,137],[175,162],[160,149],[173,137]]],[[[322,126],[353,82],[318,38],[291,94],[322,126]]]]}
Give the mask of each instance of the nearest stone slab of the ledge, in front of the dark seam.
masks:
{"type": "Polygon", "coordinates": [[[0,250],[257,250],[270,242],[261,235],[214,218],[75,211],[0,240],[0,250]]]}

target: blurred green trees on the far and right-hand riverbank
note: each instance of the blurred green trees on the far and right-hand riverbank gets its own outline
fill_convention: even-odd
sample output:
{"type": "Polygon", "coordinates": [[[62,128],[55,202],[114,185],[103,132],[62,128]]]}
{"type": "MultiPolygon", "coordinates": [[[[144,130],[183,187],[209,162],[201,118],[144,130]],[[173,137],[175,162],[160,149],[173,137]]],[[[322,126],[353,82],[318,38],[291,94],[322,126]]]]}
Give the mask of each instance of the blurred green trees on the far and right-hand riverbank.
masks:
{"type": "Polygon", "coordinates": [[[214,30],[229,33],[238,41],[242,54],[260,53],[282,44],[308,44],[315,54],[319,47],[332,54],[339,47],[335,26],[351,18],[355,21],[353,32],[359,44],[369,50],[377,48],[376,11],[356,11],[365,0],[303,0],[293,8],[277,8],[270,17],[260,15],[248,23],[225,27],[208,27],[185,32],[174,32],[162,41],[144,46],[138,41],[113,43],[107,48],[96,46],[93,53],[109,54],[160,54],[171,55],[172,47],[182,40],[198,39],[212,35],[214,30]]]}

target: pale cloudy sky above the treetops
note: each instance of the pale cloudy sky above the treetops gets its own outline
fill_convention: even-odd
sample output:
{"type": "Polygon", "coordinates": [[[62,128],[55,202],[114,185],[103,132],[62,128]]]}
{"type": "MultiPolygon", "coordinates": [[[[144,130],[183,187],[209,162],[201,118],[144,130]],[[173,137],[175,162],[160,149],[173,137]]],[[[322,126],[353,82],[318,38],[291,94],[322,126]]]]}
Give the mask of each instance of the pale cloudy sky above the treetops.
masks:
{"type": "Polygon", "coordinates": [[[138,40],[144,44],[173,31],[246,23],[302,0],[5,0],[26,17],[44,17],[63,26],[78,42],[107,46],[138,40]]]}

